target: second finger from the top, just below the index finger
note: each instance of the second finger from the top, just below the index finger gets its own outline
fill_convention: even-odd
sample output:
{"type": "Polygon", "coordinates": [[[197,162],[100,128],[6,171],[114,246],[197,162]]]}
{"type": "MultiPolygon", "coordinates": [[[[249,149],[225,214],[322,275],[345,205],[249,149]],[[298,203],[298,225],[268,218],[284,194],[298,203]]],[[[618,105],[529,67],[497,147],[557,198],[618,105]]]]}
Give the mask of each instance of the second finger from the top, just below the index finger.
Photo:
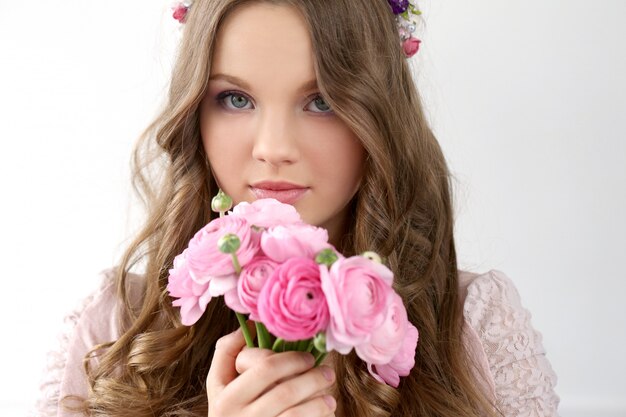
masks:
{"type": "MultiPolygon", "coordinates": [[[[320,366],[295,376],[272,388],[267,394],[260,397],[253,405],[252,415],[273,415],[277,411],[284,412],[296,405],[306,402],[311,398],[323,397],[330,399],[332,396],[319,395],[325,387],[330,386],[335,380],[335,374],[327,366],[320,366]]],[[[329,409],[321,410],[323,413],[316,415],[326,415],[329,409]]],[[[309,415],[307,413],[294,415],[309,415]]]]}

